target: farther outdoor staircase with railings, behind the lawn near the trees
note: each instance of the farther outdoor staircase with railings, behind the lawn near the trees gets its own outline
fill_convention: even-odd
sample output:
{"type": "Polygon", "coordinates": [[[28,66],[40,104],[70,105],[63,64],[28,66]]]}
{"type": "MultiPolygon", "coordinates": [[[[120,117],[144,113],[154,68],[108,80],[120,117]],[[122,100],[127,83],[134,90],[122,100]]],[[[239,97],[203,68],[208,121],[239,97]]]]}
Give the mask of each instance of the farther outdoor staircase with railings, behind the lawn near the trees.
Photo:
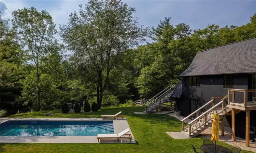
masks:
{"type": "Polygon", "coordinates": [[[148,100],[143,104],[143,111],[145,113],[152,113],[158,107],[160,107],[163,103],[170,101],[170,97],[172,92],[174,91],[176,85],[170,85],[161,92],[159,92],[156,96],[148,100]]]}

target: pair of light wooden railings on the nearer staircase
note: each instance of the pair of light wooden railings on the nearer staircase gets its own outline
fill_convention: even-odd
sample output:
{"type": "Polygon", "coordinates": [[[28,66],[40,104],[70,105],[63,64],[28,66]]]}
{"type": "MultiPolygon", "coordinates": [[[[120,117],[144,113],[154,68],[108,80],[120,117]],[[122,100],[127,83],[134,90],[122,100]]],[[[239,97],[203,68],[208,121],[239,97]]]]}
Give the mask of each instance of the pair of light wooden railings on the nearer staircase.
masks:
{"type": "MultiPolygon", "coordinates": [[[[231,94],[232,94],[232,93],[231,93],[231,94]]],[[[207,120],[207,114],[210,113],[210,112],[212,112],[212,111],[214,110],[214,108],[218,107],[219,105],[222,106],[222,110],[221,110],[218,114],[221,114],[221,113],[225,110],[225,108],[226,108],[226,107],[224,107],[224,101],[225,101],[225,99],[227,99],[227,98],[228,98],[228,95],[225,96],[225,97],[223,97],[223,98],[221,99],[221,102],[219,102],[219,103],[217,103],[216,105],[212,106],[210,109],[208,109],[208,111],[205,111],[203,114],[201,114],[200,116],[198,116],[198,114],[199,114],[198,112],[199,112],[202,108],[204,108],[205,106],[207,106],[207,105],[209,105],[209,104],[211,104],[211,103],[214,104],[214,99],[212,99],[212,100],[209,101],[208,103],[204,104],[202,107],[198,108],[195,112],[193,112],[192,114],[190,114],[189,116],[187,116],[186,118],[184,118],[183,120],[181,120],[181,121],[182,121],[182,131],[184,131],[184,129],[186,129],[186,128],[188,127],[188,135],[190,135],[191,133],[193,133],[193,132],[195,132],[197,129],[199,129],[201,126],[206,125],[207,122],[209,122],[210,120],[212,120],[212,118],[210,118],[210,119],[207,120]],[[187,125],[186,127],[184,127],[184,121],[185,121],[186,119],[188,119],[189,117],[191,117],[192,115],[194,115],[195,113],[197,113],[197,118],[195,118],[193,121],[189,122],[188,125],[187,125]],[[201,118],[204,118],[204,124],[201,124],[201,125],[197,126],[197,128],[195,128],[194,130],[191,130],[191,125],[192,125],[194,122],[196,122],[196,121],[198,121],[199,119],[201,119],[201,118]]]]}

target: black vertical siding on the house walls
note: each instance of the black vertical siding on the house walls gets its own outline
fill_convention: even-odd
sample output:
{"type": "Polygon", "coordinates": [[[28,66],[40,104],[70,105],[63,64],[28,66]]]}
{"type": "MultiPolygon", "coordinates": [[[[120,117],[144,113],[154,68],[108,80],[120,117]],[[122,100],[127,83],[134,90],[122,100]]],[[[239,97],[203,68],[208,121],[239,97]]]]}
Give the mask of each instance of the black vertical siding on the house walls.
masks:
{"type": "MultiPolygon", "coordinates": [[[[185,78],[183,78],[185,79],[185,78]]],[[[200,76],[200,87],[185,86],[185,80],[182,82],[183,94],[178,100],[177,106],[183,116],[188,116],[189,113],[189,98],[198,99],[197,106],[201,107],[205,103],[212,100],[212,97],[225,97],[228,94],[227,88],[223,88],[224,75],[205,75],[200,76]],[[212,80],[212,81],[211,81],[212,80]]],[[[248,89],[248,75],[247,74],[233,74],[233,88],[234,89],[248,89]]],[[[243,100],[243,93],[237,93],[235,100],[243,100]]],[[[256,126],[256,111],[251,111],[250,125],[256,126]]],[[[225,130],[230,131],[231,116],[225,117],[225,130]]],[[[245,137],[245,112],[240,112],[236,115],[236,136],[245,137]]],[[[251,139],[255,136],[251,135],[251,139]]]]}

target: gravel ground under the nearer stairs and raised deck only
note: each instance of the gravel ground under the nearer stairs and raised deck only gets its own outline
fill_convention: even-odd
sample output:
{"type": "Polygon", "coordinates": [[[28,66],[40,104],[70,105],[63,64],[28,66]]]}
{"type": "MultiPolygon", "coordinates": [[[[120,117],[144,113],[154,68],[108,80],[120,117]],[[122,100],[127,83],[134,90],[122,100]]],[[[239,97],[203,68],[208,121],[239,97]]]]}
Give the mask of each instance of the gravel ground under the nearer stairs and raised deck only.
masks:
{"type": "MultiPolygon", "coordinates": [[[[219,131],[219,133],[221,133],[221,130],[219,131]]],[[[210,139],[211,136],[212,136],[212,128],[211,127],[204,130],[201,134],[198,135],[198,137],[206,138],[206,139],[210,139]]],[[[237,145],[238,147],[240,147],[243,150],[256,152],[256,143],[250,142],[250,147],[246,147],[245,146],[245,139],[236,137],[236,141],[231,141],[231,134],[230,133],[225,132],[224,136],[219,134],[219,140],[223,141],[223,142],[226,142],[228,145],[231,145],[231,146],[237,145]]]]}

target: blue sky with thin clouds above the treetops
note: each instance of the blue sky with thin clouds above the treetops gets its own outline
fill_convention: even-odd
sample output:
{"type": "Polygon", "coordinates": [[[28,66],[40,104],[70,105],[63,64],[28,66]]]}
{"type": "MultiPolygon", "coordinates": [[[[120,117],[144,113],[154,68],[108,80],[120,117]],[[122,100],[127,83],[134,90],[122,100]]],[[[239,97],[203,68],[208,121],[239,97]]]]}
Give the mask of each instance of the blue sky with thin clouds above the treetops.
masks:
{"type": "MultiPolygon", "coordinates": [[[[124,1],[136,8],[134,16],[139,24],[156,27],[160,20],[171,17],[171,24],[189,24],[190,29],[203,29],[208,24],[241,26],[250,21],[256,13],[254,1],[124,1]]],[[[18,8],[34,6],[39,11],[46,9],[53,17],[58,29],[59,24],[66,24],[69,14],[79,10],[79,4],[87,1],[1,1],[1,15],[11,19],[11,12],[18,8]]]]}

